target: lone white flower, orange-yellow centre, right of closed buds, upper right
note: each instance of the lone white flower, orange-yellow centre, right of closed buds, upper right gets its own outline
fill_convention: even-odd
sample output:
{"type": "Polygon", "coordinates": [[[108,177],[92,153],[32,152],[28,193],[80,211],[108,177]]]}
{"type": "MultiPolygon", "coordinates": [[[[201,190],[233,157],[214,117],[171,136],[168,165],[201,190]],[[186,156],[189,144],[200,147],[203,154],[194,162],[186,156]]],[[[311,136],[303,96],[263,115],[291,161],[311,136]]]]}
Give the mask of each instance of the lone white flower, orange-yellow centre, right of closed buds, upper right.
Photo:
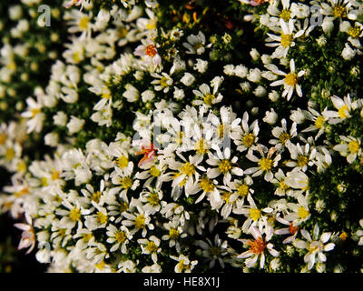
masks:
{"type": "Polygon", "coordinates": [[[290,69],[289,74],[280,71],[276,65],[269,64],[265,66],[274,74],[284,76],[283,79],[272,82],[270,84],[271,86],[283,85],[284,86],[284,91],[282,92],[283,97],[286,96],[287,100],[289,101],[295,90],[299,95],[299,97],[302,96],[302,91],[300,85],[298,84],[298,80],[299,77],[305,74],[305,71],[301,70],[299,71],[299,73],[296,73],[294,59],[291,59],[289,62],[289,69],[290,69]]]}

